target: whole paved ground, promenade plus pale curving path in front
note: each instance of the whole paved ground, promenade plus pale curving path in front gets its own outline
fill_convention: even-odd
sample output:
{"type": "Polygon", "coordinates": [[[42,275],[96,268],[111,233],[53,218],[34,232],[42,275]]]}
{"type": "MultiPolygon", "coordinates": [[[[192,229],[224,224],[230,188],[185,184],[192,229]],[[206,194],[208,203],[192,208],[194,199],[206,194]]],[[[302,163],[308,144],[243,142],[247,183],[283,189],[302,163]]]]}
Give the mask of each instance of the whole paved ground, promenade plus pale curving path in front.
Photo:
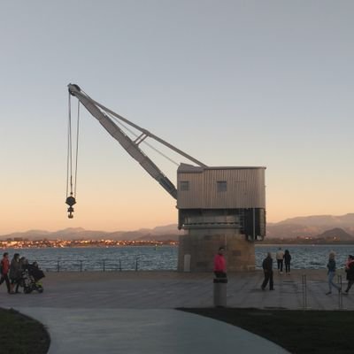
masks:
{"type": "MultiPolygon", "coordinates": [[[[354,310],[349,296],[325,296],[326,271],[274,273],[275,291],[262,291],[261,272],[229,274],[230,307],[354,310]],[[306,295],[306,296],[304,296],[306,295]]],[[[27,313],[50,331],[50,354],[285,353],[241,328],[173,310],[211,307],[212,274],[175,272],[47,273],[44,293],[9,296],[0,304],[27,313]]]]}

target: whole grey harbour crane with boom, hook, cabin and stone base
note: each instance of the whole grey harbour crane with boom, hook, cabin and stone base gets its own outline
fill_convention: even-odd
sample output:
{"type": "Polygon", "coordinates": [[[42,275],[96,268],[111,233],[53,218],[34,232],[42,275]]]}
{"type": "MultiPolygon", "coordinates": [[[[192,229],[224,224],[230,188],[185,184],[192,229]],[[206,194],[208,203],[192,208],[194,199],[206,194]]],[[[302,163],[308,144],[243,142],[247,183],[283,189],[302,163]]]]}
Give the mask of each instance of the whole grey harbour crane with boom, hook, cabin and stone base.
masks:
{"type": "MultiPolygon", "coordinates": [[[[227,269],[255,267],[254,241],[266,236],[266,186],[263,166],[214,167],[177,149],[145,128],[113,112],[87,95],[78,85],[69,84],[69,97],[76,97],[104,129],[127,150],[142,168],[176,199],[179,239],[178,270],[211,271],[212,258],[219,246],[227,249],[227,269]],[[122,123],[140,132],[131,139],[122,123]],[[147,138],[187,158],[177,169],[177,187],[140,148],[147,138]]],[[[68,193],[67,193],[68,194],[68,193]]],[[[71,191],[66,198],[69,218],[76,200],[71,191]]]]}

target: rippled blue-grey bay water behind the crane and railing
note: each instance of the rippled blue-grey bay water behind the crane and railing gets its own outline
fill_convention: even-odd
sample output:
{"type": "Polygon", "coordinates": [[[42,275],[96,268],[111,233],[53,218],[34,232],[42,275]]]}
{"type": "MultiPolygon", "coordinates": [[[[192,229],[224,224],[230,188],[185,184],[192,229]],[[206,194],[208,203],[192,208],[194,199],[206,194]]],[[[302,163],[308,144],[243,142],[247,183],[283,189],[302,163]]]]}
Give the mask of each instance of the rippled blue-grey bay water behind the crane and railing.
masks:
{"type": "MultiPolygon", "coordinates": [[[[344,265],[349,254],[354,254],[354,245],[282,245],[288,249],[292,269],[326,268],[328,253],[335,251],[337,267],[344,265]]],[[[256,246],[256,267],[261,268],[267,252],[275,254],[276,245],[256,246]]],[[[2,251],[2,250],[0,250],[2,251]]],[[[25,256],[30,262],[38,261],[47,271],[125,271],[125,270],[176,270],[178,247],[134,246],[116,248],[67,248],[67,249],[20,249],[7,250],[25,256]]]]}

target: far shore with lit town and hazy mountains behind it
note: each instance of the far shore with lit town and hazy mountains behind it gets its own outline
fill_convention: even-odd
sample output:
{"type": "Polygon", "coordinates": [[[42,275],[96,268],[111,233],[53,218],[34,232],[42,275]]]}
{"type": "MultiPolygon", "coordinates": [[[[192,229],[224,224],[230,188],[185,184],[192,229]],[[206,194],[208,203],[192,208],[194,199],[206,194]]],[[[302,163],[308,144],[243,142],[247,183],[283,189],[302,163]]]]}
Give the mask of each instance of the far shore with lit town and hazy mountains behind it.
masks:
{"type": "MultiPolygon", "coordinates": [[[[354,213],[319,215],[268,223],[266,238],[257,244],[352,244],[354,213]]],[[[104,232],[81,227],[55,232],[30,230],[0,235],[1,248],[119,247],[177,245],[183,235],[175,224],[135,231],[104,232]]]]}

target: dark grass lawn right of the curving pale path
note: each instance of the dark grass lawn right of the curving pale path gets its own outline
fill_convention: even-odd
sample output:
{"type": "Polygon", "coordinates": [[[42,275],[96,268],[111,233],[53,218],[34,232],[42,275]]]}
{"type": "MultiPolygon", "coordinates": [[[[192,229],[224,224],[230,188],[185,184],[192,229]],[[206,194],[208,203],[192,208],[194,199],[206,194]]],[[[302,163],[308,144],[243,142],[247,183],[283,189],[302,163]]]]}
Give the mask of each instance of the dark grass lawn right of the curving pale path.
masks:
{"type": "Polygon", "coordinates": [[[180,308],[242,327],[293,354],[352,354],[354,312],[180,308]]]}

